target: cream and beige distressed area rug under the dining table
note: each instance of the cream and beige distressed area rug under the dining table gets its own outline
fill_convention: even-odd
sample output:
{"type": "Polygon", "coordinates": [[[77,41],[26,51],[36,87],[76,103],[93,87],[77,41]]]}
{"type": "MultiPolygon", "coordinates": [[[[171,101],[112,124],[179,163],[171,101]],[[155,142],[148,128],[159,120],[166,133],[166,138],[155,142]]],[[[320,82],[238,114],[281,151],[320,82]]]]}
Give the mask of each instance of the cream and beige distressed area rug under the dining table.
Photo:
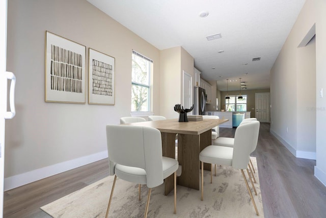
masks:
{"type": "MultiPolygon", "coordinates": [[[[216,167],[216,177],[210,183],[210,172],[204,171],[204,201],[201,191],[177,186],[177,214],[173,214],[173,191],[164,196],[164,185],[152,188],[148,217],[264,217],[256,158],[257,196],[254,195],[260,216],[256,215],[241,171],[226,166],[216,167]]],[[[246,173],[247,179],[248,174],[246,173]]],[[[105,217],[114,176],[106,177],[71,193],[41,209],[55,218],[105,217]]],[[[251,187],[250,181],[249,185],[251,187]]],[[[148,188],[142,185],[138,200],[138,184],[117,179],[109,217],[143,217],[148,188]]]]}

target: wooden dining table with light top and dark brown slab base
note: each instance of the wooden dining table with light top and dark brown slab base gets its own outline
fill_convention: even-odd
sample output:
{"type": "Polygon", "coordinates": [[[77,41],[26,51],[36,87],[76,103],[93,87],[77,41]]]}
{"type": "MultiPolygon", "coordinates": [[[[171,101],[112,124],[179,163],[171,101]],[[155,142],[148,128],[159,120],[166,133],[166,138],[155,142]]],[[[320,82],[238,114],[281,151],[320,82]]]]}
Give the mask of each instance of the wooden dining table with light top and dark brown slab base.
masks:
{"type": "MultiPolygon", "coordinates": [[[[164,119],[127,125],[153,127],[161,132],[162,155],[176,157],[176,134],[178,134],[177,159],[182,172],[177,177],[177,184],[199,190],[200,161],[199,153],[211,144],[211,129],[228,119],[202,119],[198,121],[178,122],[178,119],[164,119]]],[[[204,164],[210,170],[210,164],[204,164]]],[[[174,188],[173,175],[165,179],[165,195],[174,188]]]]}

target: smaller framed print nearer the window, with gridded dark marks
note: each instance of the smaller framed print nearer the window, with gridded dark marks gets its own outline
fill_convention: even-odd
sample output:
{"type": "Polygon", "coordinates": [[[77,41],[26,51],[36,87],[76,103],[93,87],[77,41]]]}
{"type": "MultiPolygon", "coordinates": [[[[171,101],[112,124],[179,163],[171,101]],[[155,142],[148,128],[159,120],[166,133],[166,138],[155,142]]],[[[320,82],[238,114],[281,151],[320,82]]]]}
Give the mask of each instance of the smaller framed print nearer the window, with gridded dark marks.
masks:
{"type": "Polygon", "coordinates": [[[115,104],[115,58],[89,48],[88,103],[115,104]]]}

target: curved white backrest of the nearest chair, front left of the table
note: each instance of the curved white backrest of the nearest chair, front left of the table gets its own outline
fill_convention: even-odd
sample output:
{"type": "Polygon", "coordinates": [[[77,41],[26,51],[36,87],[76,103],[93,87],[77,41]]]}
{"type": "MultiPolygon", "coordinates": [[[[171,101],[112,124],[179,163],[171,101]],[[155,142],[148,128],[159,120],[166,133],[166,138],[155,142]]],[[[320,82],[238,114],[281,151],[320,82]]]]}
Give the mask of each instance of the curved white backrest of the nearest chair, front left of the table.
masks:
{"type": "MultiPolygon", "coordinates": [[[[162,142],[159,130],[152,127],[107,125],[106,140],[109,164],[144,169],[148,187],[163,183],[162,142]]],[[[114,166],[110,167],[109,173],[114,175],[114,166]]]]}

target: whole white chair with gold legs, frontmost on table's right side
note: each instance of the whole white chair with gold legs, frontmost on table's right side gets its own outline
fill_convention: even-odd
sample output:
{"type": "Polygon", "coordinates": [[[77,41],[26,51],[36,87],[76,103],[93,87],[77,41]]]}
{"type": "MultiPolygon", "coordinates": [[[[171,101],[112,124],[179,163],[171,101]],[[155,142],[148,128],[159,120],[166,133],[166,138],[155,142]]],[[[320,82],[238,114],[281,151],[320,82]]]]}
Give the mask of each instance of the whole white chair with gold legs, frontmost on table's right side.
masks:
{"type": "MultiPolygon", "coordinates": [[[[224,147],[224,146],[208,146],[203,149],[199,154],[199,160],[201,161],[202,169],[203,163],[210,163],[210,164],[217,164],[217,165],[227,165],[232,166],[236,169],[241,169],[241,173],[246,183],[247,189],[249,191],[250,198],[254,204],[255,210],[257,215],[259,215],[255,200],[252,196],[251,190],[249,188],[246,175],[244,175],[243,169],[247,169],[247,173],[249,175],[250,181],[252,186],[254,184],[251,180],[249,171],[248,171],[248,164],[250,160],[250,153],[252,150],[256,149],[257,141],[258,141],[258,132],[259,132],[259,122],[252,121],[241,126],[238,126],[235,130],[234,136],[234,146],[231,147],[224,147]]],[[[202,170],[202,194],[201,200],[203,200],[203,188],[204,188],[204,174],[202,170]]],[[[254,189],[255,194],[257,195],[256,189],[254,189]]]]}

